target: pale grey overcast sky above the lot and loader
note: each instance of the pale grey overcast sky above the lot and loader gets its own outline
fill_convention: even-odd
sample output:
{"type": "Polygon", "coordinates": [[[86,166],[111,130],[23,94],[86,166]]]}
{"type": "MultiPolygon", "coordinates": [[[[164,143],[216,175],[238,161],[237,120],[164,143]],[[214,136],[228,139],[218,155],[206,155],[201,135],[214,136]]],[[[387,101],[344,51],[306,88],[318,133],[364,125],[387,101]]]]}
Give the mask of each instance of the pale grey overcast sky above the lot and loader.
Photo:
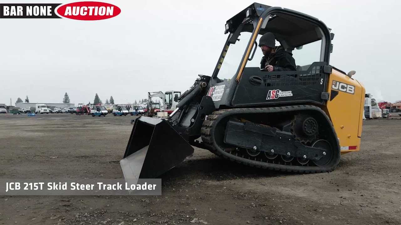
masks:
{"type": "MultiPolygon", "coordinates": [[[[0,3],[15,1],[2,0],[0,3]]],[[[18,3],[76,1],[18,1],[18,3]]],[[[107,1],[121,8],[99,21],[0,19],[0,103],[129,103],[148,91],[187,90],[211,75],[227,38],[225,22],[250,0],[107,1]],[[207,15],[209,14],[209,15],[207,15]],[[203,45],[203,46],[201,46],[203,45]],[[155,80],[155,81],[151,81],[155,80]],[[150,86],[151,88],[146,88],[150,86]]],[[[377,100],[401,99],[397,0],[269,0],[322,20],[335,34],[330,64],[363,82],[377,100]],[[306,4],[307,2],[307,4],[306,4]]],[[[258,49],[260,50],[260,49],[258,49]]]]}

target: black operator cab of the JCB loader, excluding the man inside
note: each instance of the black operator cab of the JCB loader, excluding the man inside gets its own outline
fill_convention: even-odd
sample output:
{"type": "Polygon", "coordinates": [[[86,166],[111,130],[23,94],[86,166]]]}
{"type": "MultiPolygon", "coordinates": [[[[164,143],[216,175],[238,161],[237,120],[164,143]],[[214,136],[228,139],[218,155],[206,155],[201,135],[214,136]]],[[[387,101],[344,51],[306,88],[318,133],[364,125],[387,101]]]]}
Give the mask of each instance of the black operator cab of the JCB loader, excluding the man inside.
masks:
{"type": "Polygon", "coordinates": [[[327,100],[334,34],[323,22],[294,10],[254,3],[227,20],[225,28],[229,36],[211,86],[224,85],[224,90],[228,87],[229,91],[222,91],[218,98],[212,96],[217,107],[283,102],[324,104],[327,100]],[[259,40],[266,32],[275,34],[276,47],[282,46],[292,54],[296,70],[261,70],[263,53],[259,40]]]}

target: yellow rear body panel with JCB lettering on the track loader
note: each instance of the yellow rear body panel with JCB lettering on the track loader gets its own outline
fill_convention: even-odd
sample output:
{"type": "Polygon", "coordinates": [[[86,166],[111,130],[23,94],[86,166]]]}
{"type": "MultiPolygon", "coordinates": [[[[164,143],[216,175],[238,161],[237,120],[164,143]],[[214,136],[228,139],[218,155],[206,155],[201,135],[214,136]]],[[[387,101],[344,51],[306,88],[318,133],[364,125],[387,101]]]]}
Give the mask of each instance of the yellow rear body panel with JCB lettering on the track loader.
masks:
{"type": "Polygon", "coordinates": [[[323,109],[333,123],[340,141],[341,153],[359,151],[365,88],[358,81],[333,68],[327,92],[331,100],[328,100],[323,109]],[[335,97],[332,90],[338,92],[335,97]]]}

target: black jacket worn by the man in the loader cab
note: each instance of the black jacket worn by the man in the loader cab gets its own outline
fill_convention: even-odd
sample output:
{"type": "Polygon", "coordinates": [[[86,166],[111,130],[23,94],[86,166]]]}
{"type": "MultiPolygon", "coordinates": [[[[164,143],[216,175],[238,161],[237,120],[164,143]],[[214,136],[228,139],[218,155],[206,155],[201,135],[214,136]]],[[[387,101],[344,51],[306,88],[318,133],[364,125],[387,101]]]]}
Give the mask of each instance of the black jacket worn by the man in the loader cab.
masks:
{"type": "Polygon", "coordinates": [[[296,70],[295,60],[292,58],[292,53],[286,52],[282,46],[278,46],[273,54],[262,57],[260,68],[263,69],[267,65],[272,65],[273,71],[296,70]],[[268,62],[268,64],[266,62],[268,62]]]}

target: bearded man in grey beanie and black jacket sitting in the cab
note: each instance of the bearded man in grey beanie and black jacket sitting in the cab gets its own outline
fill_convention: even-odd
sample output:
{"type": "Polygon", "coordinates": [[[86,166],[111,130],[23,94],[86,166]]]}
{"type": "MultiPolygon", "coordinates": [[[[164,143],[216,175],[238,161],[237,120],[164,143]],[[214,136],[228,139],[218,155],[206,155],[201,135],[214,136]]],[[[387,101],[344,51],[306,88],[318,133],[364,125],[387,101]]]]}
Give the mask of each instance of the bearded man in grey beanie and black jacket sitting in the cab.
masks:
{"type": "Polygon", "coordinates": [[[263,53],[260,69],[267,71],[296,70],[292,53],[284,50],[282,46],[275,46],[275,35],[273,33],[267,32],[263,34],[259,40],[259,47],[263,53]]]}

